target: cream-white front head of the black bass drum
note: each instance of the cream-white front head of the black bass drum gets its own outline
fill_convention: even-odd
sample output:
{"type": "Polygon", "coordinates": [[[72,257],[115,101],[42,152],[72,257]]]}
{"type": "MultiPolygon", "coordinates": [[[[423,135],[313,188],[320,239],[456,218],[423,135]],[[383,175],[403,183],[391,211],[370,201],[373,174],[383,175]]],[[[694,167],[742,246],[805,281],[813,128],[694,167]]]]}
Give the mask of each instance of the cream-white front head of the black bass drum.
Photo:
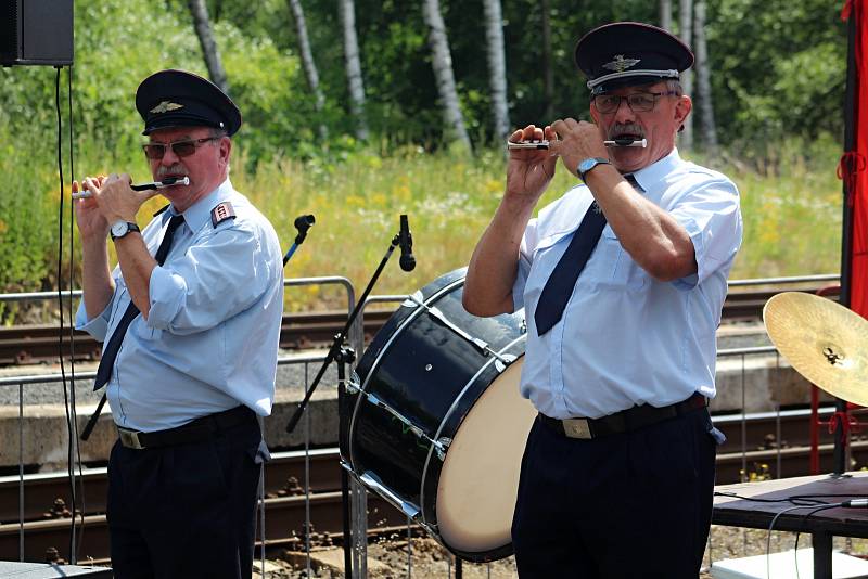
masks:
{"type": "Polygon", "coordinates": [[[449,546],[470,553],[512,542],[512,512],[524,445],[536,409],[519,394],[524,357],[473,404],[441,471],[437,528],[449,546]]]}

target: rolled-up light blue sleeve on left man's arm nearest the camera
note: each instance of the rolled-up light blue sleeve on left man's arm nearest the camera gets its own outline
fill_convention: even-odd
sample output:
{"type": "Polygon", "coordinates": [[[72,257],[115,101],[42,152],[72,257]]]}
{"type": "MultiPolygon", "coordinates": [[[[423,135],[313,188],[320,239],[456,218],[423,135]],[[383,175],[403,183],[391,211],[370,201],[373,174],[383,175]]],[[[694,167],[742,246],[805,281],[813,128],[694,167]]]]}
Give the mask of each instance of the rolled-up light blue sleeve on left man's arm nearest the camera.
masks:
{"type": "Polygon", "coordinates": [[[252,306],[268,290],[259,236],[245,227],[215,230],[151,273],[148,325],[173,334],[216,326],[252,306]]]}

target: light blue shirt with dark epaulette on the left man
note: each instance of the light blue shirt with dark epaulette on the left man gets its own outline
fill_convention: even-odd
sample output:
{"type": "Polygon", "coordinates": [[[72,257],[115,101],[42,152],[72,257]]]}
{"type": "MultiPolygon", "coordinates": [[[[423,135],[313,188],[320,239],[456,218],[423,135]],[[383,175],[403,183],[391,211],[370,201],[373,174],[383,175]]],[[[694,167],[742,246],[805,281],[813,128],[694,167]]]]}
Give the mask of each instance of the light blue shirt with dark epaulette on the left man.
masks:
{"type": "MultiPolygon", "coordinates": [[[[142,231],[151,255],[174,207],[142,231]]],[[[184,213],[165,263],[153,270],[151,310],[127,329],[106,386],[119,426],[173,428],[244,404],[268,415],[275,400],[283,313],[283,265],[277,233],[227,179],[184,213]],[[234,219],[216,227],[212,209],[230,202],[234,219]]],[[[105,310],[76,327],[107,340],[130,297],[120,268],[105,310]]]]}

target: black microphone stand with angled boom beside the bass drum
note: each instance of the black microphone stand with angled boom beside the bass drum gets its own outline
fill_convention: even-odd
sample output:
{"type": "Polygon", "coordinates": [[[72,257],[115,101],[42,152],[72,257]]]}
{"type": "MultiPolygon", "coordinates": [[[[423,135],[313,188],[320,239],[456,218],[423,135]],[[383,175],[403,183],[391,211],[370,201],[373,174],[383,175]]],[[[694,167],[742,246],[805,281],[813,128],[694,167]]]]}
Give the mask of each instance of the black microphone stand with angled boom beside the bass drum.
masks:
{"type": "MultiPolygon", "coordinates": [[[[337,439],[339,439],[339,447],[341,451],[341,458],[345,455],[345,451],[347,450],[346,446],[349,441],[346,439],[348,433],[346,433],[346,425],[345,421],[342,420],[342,410],[345,404],[345,396],[346,396],[346,369],[345,364],[352,363],[356,359],[356,352],[353,348],[346,346],[344,340],[346,339],[347,334],[349,333],[349,329],[356,321],[361,308],[365,306],[365,301],[368,299],[371,291],[373,290],[374,284],[380,279],[380,274],[383,272],[383,269],[386,267],[386,262],[388,262],[388,258],[392,257],[392,253],[400,243],[400,233],[396,234],[392,239],[392,243],[388,246],[383,259],[380,260],[380,265],[376,267],[376,270],[373,273],[373,276],[368,282],[368,286],[362,292],[361,296],[359,297],[358,301],[356,301],[353,311],[347,318],[346,323],[344,324],[343,330],[341,330],[337,334],[334,335],[334,339],[332,340],[332,345],[329,348],[329,353],[326,356],[326,360],[323,360],[322,365],[319,369],[316,377],[314,378],[312,384],[308,387],[307,391],[305,393],[305,397],[298,403],[298,407],[295,409],[295,413],[290,419],[290,422],[286,424],[286,433],[292,434],[295,430],[298,421],[304,414],[305,409],[307,409],[307,404],[310,402],[310,397],[314,396],[314,391],[316,391],[317,386],[322,381],[322,376],[326,374],[326,370],[329,365],[333,362],[337,362],[337,439]]],[[[350,579],[353,577],[353,562],[352,562],[352,536],[349,531],[349,477],[347,475],[347,469],[342,467],[341,468],[341,502],[343,505],[343,522],[344,522],[344,577],[350,579]]]]}

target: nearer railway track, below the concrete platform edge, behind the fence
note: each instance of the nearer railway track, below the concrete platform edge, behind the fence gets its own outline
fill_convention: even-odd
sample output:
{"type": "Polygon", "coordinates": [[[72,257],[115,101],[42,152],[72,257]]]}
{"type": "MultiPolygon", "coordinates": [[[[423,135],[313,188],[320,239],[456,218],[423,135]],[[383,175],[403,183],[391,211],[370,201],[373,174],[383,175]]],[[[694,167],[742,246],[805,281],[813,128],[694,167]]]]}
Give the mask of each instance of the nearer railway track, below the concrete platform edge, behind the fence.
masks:
{"type": "MultiPolygon", "coordinates": [[[[831,409],[822,409],[821,419],[831,409]]],[[[715,416],[715,425],[727,436],[717,455],[717,483],[741,480],[752,473],[756,476],[791,477],[806,475],[809,468],[807,411],[784,411],[778,414],[715,416]],[[778,447],[781,447],[778,450],[778,447]]],[[[833,445],[831,435],[821,428],[820,471],[831,472],[833,445]]],[[[857,465],[868,464],[868,440],[854,439],[852,456],[857,465]]],[[[84,494],[79,489],[79,509],[84,497],[85,532],[80,540],[80,557],[95,561],[107,558],[105,522],[105,468],[84,472],[84,494]]],[[[341,533],[341,466],[337,449],[276,452],[266,466],[266,538],[267,546],[302,549],[305,538],[305,516],[310,513],[312,545],[340,541],[341,533]],[[307,475],[305,464],[307,462],[307,475]],[[310,494],[304,491],[307,477],[310,494]]],[[[42,561],[51,549],[68,559],[71,513],[69,483],[65,474],[27,475],[24,502],[20,505],[17,476],[0,477],[0,561],[18,558],[18,539],[25,522],[24,545],[27,561],[42,561]]],[[[371,533],[398,529],[405,515],[375,494],[368,498],[368,526],[371,533]]],[[[80,522],[80,514],[77,517],[80,522]]]]}

